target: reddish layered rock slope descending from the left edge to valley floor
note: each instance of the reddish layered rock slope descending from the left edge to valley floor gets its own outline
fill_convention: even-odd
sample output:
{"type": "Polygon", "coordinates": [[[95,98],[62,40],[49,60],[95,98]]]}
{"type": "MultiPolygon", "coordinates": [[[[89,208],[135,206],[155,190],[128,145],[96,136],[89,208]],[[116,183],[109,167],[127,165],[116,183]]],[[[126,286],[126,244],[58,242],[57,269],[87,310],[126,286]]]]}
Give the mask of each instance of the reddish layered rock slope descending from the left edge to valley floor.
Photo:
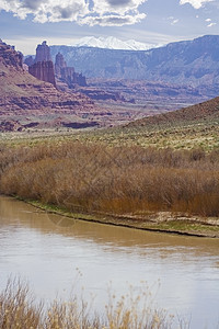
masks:
{"type": "Polygon", "coordinates": [[[30,75],[22,54],[0,42],[0,132],[93,127],[103,115],[108,111],[84,94],[61,92],[30,75]]]}

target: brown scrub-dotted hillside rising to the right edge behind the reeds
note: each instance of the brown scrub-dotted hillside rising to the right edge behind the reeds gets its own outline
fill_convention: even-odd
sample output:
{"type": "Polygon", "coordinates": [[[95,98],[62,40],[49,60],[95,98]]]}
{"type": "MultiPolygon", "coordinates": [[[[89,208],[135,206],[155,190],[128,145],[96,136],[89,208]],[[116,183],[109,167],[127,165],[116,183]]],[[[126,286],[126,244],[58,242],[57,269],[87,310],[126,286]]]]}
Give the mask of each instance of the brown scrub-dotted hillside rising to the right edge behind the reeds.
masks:
{"type": "Polygon", "coordinates": [[[210,101],[91,133],[89,140],[117,146],[219,149],[219,97],[210,101]]]}

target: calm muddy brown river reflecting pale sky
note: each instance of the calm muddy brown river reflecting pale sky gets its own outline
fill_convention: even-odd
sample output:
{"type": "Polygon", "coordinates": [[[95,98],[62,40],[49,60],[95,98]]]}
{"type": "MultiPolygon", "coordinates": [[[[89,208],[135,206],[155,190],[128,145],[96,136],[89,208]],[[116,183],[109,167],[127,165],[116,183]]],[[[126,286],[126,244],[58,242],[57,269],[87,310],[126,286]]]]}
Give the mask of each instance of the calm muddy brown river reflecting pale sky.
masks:
{"type": "MultiPolygon", "coordinates": [[[[189,328],[219,328],[219,239],[72,220],[0,196],[0,290],[19,275],[45,302],[70,292],[97,310],[146,283],[154,306],[189,328]]],[[[176,326],[177,327],[177,326],[176,326]]]]}

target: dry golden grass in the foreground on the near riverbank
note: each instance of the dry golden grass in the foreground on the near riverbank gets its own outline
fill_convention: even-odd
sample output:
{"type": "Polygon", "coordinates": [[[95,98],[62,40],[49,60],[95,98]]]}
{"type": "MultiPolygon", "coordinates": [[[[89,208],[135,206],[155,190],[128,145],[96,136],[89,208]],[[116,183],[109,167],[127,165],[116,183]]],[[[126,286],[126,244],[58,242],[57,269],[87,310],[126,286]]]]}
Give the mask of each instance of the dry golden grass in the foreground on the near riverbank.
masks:
{"type": "MultiPolygon", "coordinates": [[[[77,297],[68,302],[54,300],[46,307],[34,300],[28,285],[9,280],[0,292],[0,329],[171,329],[174,316],[152,309],[147,292],[130,293],[116,299],[110,296],[105,313],[100,315],[77,297]]],[[[177,321],[177,320],[176,320],[177,321]]],[[[178,328],[188,325],[178,322],[178,328]]]]}

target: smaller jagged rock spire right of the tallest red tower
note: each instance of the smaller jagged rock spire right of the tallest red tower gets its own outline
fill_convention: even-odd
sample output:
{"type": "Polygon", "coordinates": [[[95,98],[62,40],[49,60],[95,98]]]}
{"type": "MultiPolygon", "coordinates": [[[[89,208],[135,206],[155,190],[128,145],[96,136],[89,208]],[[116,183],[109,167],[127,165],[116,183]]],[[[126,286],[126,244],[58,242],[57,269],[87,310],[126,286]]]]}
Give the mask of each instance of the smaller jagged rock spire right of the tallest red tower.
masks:
{"type": "Polygon", "coordinates": [[[73,89],[76,84],[87,86],[85,77],[77,73],[73,67],[67,67],[64,55],[58,53],[55,63],[56,78],[68,84],[68,88],[73,89]]]}

